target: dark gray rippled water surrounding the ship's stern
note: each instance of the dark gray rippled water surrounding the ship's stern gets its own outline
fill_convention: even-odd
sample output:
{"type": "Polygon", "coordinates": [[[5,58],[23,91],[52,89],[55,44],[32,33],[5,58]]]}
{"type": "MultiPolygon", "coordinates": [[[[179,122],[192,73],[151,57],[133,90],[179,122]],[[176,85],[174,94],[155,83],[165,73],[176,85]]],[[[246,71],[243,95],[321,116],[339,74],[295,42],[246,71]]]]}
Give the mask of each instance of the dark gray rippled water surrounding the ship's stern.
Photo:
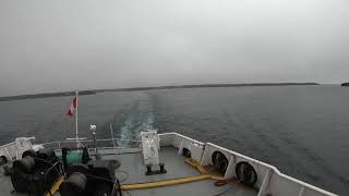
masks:
{"type": "MultiPolygon", "coordinates": [[[[231,87],[106,93],[80,97],[80,132],[135,139],[141,130],[179,132],[276,166],[349,195],[349,88],[231,87]]],[[[70,97],[0,102],[0,143],[73,137],[70,97]]],[[[123,144],[131,145],[131,144],[123,144]]]]}

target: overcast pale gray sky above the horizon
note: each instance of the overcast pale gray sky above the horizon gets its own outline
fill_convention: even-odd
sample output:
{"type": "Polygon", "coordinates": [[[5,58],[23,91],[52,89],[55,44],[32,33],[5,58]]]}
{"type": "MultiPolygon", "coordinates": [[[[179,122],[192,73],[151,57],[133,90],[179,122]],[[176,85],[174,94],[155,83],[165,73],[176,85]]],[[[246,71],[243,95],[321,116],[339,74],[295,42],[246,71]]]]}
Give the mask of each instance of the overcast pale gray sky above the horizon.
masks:
{"type": "Polygon", "coordinates": [[[348,0],[0,2],[0,96],[342,81],[348,0]]]}

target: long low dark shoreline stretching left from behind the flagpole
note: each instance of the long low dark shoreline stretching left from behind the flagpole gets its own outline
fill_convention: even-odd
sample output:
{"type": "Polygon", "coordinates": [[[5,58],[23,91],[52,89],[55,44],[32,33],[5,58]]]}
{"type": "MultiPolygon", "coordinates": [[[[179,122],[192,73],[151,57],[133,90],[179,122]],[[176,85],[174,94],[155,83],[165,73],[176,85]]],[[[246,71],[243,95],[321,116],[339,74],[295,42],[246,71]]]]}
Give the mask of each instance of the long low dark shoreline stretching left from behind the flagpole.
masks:
{"type": "MultiPolygon", "coordinates": [[[[79,95],[84,96],[84,95],[95,95],[98,93],[106,93],[106,91],[137,91],[137,90],[176,89],[176,88],[248,87],[248,86],[305,86],[305,85],[320,85],[320,84],[317,84],[317,83],[250,83],[250,84],[176,85],[176,86],[157,86],[157,87],[132,87],[132,88],[81,90],[79,93],[79,95]]],[[[73,96],[73,95],[75,95],[74,91],[20,95],[20,96],[0,97],[0,101],[49,98],[49,97],[65,97],[65,96],[73,96]]]]}

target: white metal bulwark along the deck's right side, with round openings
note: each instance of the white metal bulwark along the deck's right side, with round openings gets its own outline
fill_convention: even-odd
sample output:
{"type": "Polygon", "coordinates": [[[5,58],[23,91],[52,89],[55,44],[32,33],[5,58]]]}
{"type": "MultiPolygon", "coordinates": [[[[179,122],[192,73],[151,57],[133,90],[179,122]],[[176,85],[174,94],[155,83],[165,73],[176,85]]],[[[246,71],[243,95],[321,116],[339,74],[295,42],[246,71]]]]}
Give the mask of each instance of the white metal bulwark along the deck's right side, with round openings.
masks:
{"type": "Polygon", "coordinates": [[[226,155],[229,160],[227,171],[225,173],[225,179],[236,177],[234,167],[240,161],[246,161],[253,166],[257,173],[256,187],[260,189],[258,196],[270,195],[281,195],[281,196],[337,196],[330,192],[324,191],[294,177],[288,176],[281,173],[274,166],[267,164],[260,160],[253,159],[251,157],[241,155],[239,152],[222,148],[220,146],[210,143],[201,143],[190,137],[180,135],[178,133],[165,133],[159,134],[160,145],[167,146],[171,145],[179,148],[179,154],[181,148],[185,146],[190,147],[191,144],[203,145],[204,148],[202,157],[200,158],[203,166],[213,164],[212,155],[214,151],[220,151],[226,155]]]}

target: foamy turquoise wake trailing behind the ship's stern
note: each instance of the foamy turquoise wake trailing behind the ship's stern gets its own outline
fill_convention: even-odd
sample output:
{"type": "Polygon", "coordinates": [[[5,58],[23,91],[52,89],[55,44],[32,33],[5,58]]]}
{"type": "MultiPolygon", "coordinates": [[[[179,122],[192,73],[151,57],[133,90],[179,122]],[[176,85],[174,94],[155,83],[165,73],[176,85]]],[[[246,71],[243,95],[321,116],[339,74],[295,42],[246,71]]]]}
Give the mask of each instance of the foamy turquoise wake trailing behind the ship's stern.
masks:
{"type": "Polygon", "coordinates": [[[139,99],[129,111],[124,112],[121,122],[112,123],[112,130],[115,130],[115,136],[119,136],[122,140],[119,145],[137,146],[139,144],[132,140],[139,140],[142,131],[155,130],[154,105],[151,95],[140,93],[139,99]]]}

